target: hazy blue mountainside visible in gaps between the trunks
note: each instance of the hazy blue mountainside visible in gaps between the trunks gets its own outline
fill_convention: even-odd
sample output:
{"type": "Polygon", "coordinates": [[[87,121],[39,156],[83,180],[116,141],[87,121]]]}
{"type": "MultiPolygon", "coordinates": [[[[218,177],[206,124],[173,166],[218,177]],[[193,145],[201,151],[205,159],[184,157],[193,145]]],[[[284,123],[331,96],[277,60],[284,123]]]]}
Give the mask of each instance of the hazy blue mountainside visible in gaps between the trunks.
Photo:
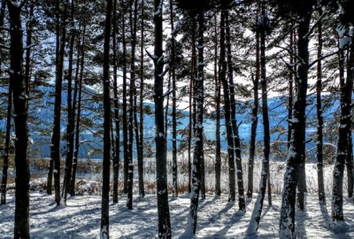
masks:
{"type": "MultiPolygon", "coordinates": [[[[6,92],[5,89],[0,89],[2,92],[6,92]]],[[[53,108],[54,108],[54,87],[39,87],[38,92],[42,92],[42,97],[40,99],[33,99],[29,104],[30,120],[28,121],[28,126],[30,129],[30,137],[33,140],[31,145],[32,157],[35,158],[49,158],[50,157],[50,135],[51,127],[53,122],[53,108]]],[[[82,95],[82,125],[86,125],[81,128],[81,150],[79,151],[80,158],[102,158],[100,150],[102,150],[102,138],[99,132],[103,127],[103,107],[100,103],[100,95],[93,89],[84,88],[82,95]]],[[[35,98],[33,96],[33,98],[35,98]]],[[[333,100],[331,96],[323,97],[324,104],[326,105],[323,110],[323,115],[325,116],[325,122],[333,121],[335,119],[335,112],[338,111],[339,101],[333,100]]],[[[337,98],[337,97],[336,97],[337,98]]],[[[278,148],[281,150],[286,150],[286,141],[288,137],[288,109],[287,109],[287,98],[286,97],[272,97],[269,100],[269,116],[270,116],[270,127],[271,127],[271,140],[273,144],[279,144],[278,148]]],[[[66,131],[66,102],[67,102],[67,91],[64,86],[62,93],[62,119],[61,120],[61,134],[65,135],[66,131]]],[[[239,134],[244,143],[245,147],[248,146],[250,141],[250,124],[251,124],[251,105],[252,102],[239,102],[237,107],[237,121],[240,123],[239,134]]],[[[154,144],[154,104],[145,104],[146,108],[150,109],[150,114],[144,114],[144,143],[150,143],[153,149],[154,144]]],[[[181,118],[179,120],[178,128],[182,131],[189,126],[189,112],[181,112],[181,118]]],[[[307,106],[307,120],[308,126],[306,129],[306,134],[308,138],[312,137],[316,132],[317,125],[317,115],[316,115],[316,105],[315,97],[308,97],[307,106]]],[[[171,119],[168,119],[171,120],[171,119]]],[[[225,137],[225,126],[222,120],[221,122],[221,139],[222,148],[227,150],[227,143],[225,137]]],[[[5,119],[0,120],[0,130],[4,131],[5,119]]],[[[331,124],[325,125],[324,130],[333,130],[331,124]]],[[[262,125],[262,113],[261,108],[259,108],[258,113],[258,135],[257,140],[259,142],[263,139],[263,125],[262,125]]],[[[120,134],[122,135],[122,134],[120,134]]],[[[204,135],[205,137],[213,141],[215,140],[215,120],[212,118],[206,118],[204,121],[204,135]]],[[[333,136],[333,135],[332,135],[333,136]]],[[[64,137],[64,136],[63,136],[64,137]]],[[[63,138],[62,137],[62,138],[63,138]]],[[[64,139],[64,138],[63,138],[64,139]]],[[[121,139],[122,140],[122,139],[121,139]]],[[[180,145],[182,141],[187,140],[187,135],[179,135],[177,142],[180,145]]],[[[326,140],[333,140],[326,138],[326,140]]],[[[331,142],[333,143],[333,142],[331,142]]],[[[168,132],[168,149],[172,147],[172,134],[168,132]]],[[[315,142],[306,144],[307,149],[311,149],[315,146],[315,142]]],[[[65,156],[65,142],[61,142],[62,156],[65,156]]],[[[248,150],[242,150],[242,153],[247,154],[248,150]]],[[[281,158],[280,158],[281,159],[281,158]]]]}

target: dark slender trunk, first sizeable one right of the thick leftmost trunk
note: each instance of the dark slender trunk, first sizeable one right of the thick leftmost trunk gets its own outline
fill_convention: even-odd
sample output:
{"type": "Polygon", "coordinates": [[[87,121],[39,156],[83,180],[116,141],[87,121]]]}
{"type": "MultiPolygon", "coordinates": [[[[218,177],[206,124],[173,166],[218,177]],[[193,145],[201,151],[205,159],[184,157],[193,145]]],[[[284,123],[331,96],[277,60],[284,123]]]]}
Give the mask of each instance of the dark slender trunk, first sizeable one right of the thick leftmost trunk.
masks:
{"type": "MultiPolygon", "coordinates": [[[[50,167],[54,166],[54,191],[55,202],[60,204],[60,115],[61,115],[61,92],[63,85],[63,69],[65,57],[65,35],[66,35],[66,15],[67,2],[64,4],[64,12],[61,16],[60,1],[56,1],[56,83],[55,83],[55,103],[53,133],[51,136],[50,167]]],[[[50,170],[51,171],[51,170],[50,170]]],[[[47,191],[51,193],[51,172],[48,174],[47,191]]]]}

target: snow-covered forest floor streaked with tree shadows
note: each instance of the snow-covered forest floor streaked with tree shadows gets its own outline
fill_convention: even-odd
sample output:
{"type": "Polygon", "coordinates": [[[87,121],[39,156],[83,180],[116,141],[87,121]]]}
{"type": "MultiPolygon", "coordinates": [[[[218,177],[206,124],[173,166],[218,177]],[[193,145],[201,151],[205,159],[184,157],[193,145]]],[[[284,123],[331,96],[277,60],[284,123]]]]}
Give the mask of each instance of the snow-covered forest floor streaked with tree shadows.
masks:
{"type": "MultiPolygon", "coordinates": [[[[95,182],[92,182],[95,183],[95,182]]],[[[90,183],[88,182],[87,185],[90,183]]],[[[93,187],[95,188],[95,187],[93,187]]],[[[68,197],[66,205],[57,206],[54,197],[45,191],[30,192],[30,233],[32,238],[98,238],[101,218],[101,197],[84,193],[68,197]]],[[[257,197],[254,194],[254,197],[257,197]]],[[[14,194],[0,206],[0,238],[13,238],[14,194]]],[[[111,238],[157,238],[157,197],[149,194],[135,198],[134,209],[127,210],[126,197],[119,204],[110,204],[111,238]]],[[[256,198],[247,202],[247,211],[238,212],[237,202],[227,203],[227,195],[207,194],[198,208],[197,238],[278,238],[281,196],[273,195],[273,205],[265,201],[257,235],[247,235],[256,198]]],[[[179,238],[187,227],[189,195],[170,198],[173,238],[179,238]]],[[[296,238],[354,238],[354,205],[344,199],[342,223],[331,220],[330,195],[327,204],[319,204],[316,194],[306,197],[305,212],[296,212],[296,238]]]]}

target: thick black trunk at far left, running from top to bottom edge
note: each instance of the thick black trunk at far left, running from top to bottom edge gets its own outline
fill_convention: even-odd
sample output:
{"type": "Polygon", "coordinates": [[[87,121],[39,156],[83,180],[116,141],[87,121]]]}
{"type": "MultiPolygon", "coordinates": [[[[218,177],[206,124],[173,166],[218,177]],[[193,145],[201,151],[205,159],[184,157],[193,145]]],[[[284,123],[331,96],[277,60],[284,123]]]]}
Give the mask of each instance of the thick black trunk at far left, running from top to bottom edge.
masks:
{"type": "Polygon", "coordinates": [[[10,81],[15,121],[15,220],[14,238],[29,238],[29,162],[28,162],[28,96],[23,75],[22,4],[7,1],[10,17],[10,81]]]}

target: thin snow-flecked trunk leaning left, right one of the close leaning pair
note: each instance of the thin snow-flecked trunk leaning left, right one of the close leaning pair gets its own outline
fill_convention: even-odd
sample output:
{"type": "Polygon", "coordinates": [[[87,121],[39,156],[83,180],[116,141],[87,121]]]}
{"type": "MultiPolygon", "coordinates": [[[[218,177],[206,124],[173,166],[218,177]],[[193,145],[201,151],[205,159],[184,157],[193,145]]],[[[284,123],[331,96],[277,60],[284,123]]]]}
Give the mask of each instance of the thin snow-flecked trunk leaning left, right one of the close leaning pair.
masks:
{"type": "Polygon", "coordinates": [[[230,107],[231,107],[231,126],[234,140],[235,162],[237,168],[237,189],[238,189],[238,204],[239,210],[246,210],[246,203],[244,201],[244,188],[243,188],[243,173],[242,173],[242,158],[241,158],[241,141],[238,133],[238,126],[236,120],[236,102],[235,102],[235,85],[234,85],[234,68],[232,62],[231,52],[231,35],[230,35],[230,21],[228,19],[228,11],[225,12],[225,25],[226,25],[226,41],[227,41],[227,76],[228,88],[230,93],[230,107]]]}

